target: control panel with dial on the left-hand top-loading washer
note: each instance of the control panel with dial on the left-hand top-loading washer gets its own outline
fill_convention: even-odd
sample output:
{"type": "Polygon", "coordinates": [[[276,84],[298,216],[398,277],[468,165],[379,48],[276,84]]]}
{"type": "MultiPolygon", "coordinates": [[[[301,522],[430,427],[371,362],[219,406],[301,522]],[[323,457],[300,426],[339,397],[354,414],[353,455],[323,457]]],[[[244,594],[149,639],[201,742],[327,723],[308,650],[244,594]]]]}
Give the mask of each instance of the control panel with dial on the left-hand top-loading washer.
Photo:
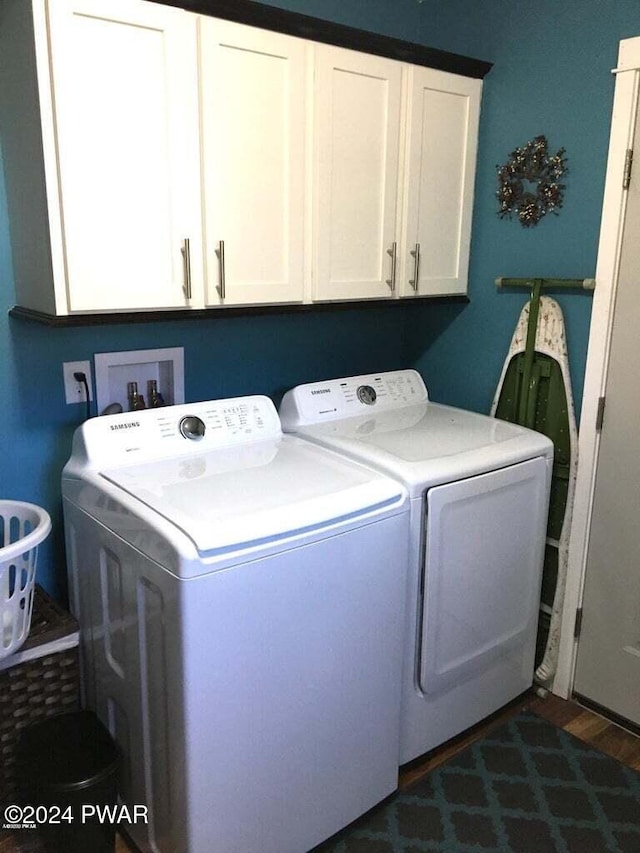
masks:
{"type": "Polygon", "coordinates": [[[81,453],[91,465],[111,467],[281,435],[278,413],[268,397],[234,397],[91,418],[76,430],[73,455],[81,453]]]}

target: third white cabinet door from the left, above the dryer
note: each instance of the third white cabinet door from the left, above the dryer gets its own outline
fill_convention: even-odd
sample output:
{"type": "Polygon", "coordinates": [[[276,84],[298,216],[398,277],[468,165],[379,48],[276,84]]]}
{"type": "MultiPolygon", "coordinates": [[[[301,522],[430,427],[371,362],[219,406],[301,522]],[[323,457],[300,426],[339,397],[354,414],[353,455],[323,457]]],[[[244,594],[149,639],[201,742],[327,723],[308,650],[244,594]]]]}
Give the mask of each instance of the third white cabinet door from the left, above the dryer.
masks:
{"type": "Polygon", "coordinates": [[[393,294],[402,66],[316,47],[314,298],[393,294]]]}

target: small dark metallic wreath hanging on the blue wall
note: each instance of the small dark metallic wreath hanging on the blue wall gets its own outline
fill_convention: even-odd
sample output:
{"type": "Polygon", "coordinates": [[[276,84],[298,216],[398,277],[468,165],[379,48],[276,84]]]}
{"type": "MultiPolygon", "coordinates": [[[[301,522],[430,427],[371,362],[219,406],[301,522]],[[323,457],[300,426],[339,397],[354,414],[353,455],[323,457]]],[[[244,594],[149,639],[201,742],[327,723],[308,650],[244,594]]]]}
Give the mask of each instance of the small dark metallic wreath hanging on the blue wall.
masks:
{"type": "Polygon", "coordinates": [[[550,155],[546,137],[536,136],[512,151],[503,166],[497,166],[501,219],[515,213],[520,224],[529,228],[549,212],[558,214],[565,189],[559,180],[567,172],[564,152],[560,148],[550,155]]]}

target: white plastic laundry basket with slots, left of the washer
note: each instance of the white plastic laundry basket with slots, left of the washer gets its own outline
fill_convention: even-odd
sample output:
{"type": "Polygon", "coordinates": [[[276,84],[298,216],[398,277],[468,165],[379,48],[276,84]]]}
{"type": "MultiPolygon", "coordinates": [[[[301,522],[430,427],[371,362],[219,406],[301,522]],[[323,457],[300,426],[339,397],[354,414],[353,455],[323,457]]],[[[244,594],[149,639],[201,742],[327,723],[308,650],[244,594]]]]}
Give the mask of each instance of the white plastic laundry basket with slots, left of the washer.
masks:
{"type": "Polygon", "coordinates": [[[50,530],[51,519],[41,507],[0,501],[0,660],[27,639],[38,545],[50,530]]]}

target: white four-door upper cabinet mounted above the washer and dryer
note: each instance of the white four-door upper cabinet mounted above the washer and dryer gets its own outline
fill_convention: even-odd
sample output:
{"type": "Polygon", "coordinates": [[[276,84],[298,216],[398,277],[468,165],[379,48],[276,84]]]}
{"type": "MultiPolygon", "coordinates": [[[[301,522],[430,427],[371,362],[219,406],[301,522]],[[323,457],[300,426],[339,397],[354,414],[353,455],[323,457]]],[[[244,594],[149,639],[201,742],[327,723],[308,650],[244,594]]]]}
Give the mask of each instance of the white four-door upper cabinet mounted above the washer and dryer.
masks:
{"type": "Polygon", "coordinates": [[[481,86],[149,0],[0,0],[17,303],[464,294],[481,86]]]}

